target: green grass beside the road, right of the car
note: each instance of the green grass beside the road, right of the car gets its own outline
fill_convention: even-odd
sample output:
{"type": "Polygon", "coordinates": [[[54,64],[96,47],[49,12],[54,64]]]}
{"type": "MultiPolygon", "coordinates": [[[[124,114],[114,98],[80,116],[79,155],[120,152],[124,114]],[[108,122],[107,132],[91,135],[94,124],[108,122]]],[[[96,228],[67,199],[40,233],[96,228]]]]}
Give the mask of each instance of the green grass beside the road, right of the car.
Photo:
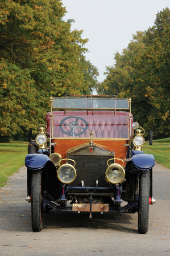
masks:
{"type": "Polygon", "coordinates": [[[154,155],[156,162],[170,169],[170,138],[153,140],[152,145],[144,144],[143,151],[154,155]]]}

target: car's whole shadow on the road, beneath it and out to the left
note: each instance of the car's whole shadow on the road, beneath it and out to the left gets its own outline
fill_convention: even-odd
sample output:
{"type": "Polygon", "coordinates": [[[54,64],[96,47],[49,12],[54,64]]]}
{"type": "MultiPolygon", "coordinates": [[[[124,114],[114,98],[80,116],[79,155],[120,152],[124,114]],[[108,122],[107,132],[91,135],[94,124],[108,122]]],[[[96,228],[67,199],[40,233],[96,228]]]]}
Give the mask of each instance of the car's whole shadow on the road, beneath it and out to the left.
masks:
{"type": "MultiPolygon", "coordinates": [[[[31,205],[0,210],[0,230],[26,231],[31,229],[31,205]],[[11,210],[10,210],[11,209],[11,210]]],[[[56,212],[43,213],[43,230],[45,229],[113,229],[123,232],[137,233],[137,214],[122,213],[89,213],[56,212]],[[135,224],[134,224],[135,223],[135,224]]]]}

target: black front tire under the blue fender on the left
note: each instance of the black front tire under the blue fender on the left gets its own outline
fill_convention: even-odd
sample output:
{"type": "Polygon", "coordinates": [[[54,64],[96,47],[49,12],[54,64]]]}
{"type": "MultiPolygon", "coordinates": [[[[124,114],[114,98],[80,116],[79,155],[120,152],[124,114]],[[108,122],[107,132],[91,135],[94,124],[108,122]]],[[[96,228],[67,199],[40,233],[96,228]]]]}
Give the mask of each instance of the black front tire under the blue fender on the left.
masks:
{"type": "Polygon", "coordinates": [[[32,171],[31,222],[32,222],[32,230],[33,231],[42,230],[42,228],[43,228],[42,170],[32,171]]]}

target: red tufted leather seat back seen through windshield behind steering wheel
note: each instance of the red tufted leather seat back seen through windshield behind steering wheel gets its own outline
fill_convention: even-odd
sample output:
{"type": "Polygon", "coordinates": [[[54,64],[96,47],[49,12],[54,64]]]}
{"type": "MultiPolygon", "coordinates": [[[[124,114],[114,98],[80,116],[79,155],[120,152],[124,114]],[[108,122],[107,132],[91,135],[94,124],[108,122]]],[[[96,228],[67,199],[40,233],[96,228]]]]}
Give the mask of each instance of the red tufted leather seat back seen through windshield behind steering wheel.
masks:
{"type": "MultiPolygon", "coordinates": [[[[83,112],[86,111],[68,112],[69,114],[67,113],[66,115],[64,115],[64,111],[56,111],[56,115],[53,115],[53,138],[89,138],[90,133],[94,132],[93,138],[128,139],[128,116],[126,116],[125,114],[114,116],[96,115],[96,113],[94,113],[94,115],[92,115],[92,111],[89,111],[89,115],[82,115],[83,112]]],[[[99,111],[96,112],[100,113],[99,111]]],[[[47,120],[47,123],[49,132],[49,118],[47,120]]]]}

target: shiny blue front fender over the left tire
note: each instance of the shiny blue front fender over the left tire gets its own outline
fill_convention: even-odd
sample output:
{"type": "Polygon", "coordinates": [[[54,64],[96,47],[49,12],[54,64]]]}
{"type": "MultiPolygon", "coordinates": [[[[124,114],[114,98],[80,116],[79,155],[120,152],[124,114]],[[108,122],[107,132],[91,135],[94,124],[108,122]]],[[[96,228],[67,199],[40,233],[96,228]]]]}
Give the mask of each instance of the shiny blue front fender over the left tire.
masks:
{"type": "Polygon", "coordinates": [[[26,155],[25,159],[25,165],[27,166],[27,168],[31,170],[42,169],[47,164],[47,162],[49,162],[49,164],[52,165],[52,168],[56,169],[56,166],[53,164],[53,162],[51,161],[51,159],[49,159],[47,155],[30,154],[26,155]]]}

